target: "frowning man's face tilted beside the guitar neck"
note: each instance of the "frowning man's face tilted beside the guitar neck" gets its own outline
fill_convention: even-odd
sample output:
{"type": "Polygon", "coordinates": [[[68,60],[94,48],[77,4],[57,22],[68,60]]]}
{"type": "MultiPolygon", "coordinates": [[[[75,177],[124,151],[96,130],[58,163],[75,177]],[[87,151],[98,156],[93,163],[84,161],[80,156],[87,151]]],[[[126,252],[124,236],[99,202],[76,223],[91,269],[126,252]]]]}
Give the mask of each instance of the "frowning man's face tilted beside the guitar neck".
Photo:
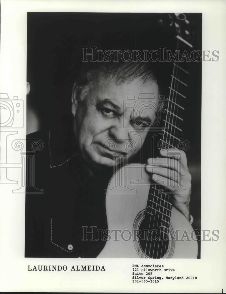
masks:
{"type": "Polygon", "coordinates": [[[156,118],[153,101],[138,99],[140,93],[153,93],[158,99],[157,83],[144,84],[139,78],[116,83],[111,77],[101,76],[81,101],[76,103],[74,97],[76,139],[91,168],[117,165],[123,152],[129,160],[140,150],[156,118]],[[135,100],[128,96],[135,96],[135,100]]]}

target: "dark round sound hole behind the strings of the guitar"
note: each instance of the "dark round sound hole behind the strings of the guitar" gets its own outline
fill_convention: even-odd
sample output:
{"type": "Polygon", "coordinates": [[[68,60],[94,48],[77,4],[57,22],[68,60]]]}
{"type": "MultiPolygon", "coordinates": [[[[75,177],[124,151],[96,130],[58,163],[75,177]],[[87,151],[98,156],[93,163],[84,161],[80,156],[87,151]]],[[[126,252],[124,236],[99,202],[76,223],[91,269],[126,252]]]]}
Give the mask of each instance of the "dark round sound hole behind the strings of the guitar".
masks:
{"type": "Polygon", "coordinates": [[[140,221],[138,242],[148,258],[162,258],[169,246],[168,228],[162,226],[160,218],[146,213],[140,221]]]}

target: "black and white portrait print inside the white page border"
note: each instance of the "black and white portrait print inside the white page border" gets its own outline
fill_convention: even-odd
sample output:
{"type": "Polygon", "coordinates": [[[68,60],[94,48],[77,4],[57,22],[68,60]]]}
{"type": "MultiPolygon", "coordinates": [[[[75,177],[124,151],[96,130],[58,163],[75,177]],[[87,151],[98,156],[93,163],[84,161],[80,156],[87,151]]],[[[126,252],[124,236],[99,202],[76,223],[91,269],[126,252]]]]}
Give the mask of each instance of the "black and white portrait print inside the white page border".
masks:
{"type": "Polygon", "coordinates": [[[28,13],[25,257],[200,258],[201,39],[201,13],[28,13]]]}

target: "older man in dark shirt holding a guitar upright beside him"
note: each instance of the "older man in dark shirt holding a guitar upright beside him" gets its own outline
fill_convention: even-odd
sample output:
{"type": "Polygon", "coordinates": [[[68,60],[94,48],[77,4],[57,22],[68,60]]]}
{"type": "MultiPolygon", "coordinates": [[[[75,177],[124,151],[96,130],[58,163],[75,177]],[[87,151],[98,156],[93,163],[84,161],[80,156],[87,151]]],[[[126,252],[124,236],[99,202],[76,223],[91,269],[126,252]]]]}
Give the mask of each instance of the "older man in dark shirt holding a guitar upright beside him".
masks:
{"type": "MultiPolygon", "coordinates": [[[[72,93],[74,137],[68,136],[59,151],[60,140],[53,138],[51,129],[29,135],[29,139],[44,142],[35,158],[36,186],[44,192],[34,195],[27,190],[26,257],[98,256],[106,240],[94,241],[91,236],[84,240],[83,228],[107,229],[104,189],[113,168],[120,166],[120,156],[114,154],[125,152],[125,142],[135,141],[136,147],[128,151],[127,158],[136,162],[157,115],[154,108],[136,113],[133,108],[124,108],[123,101],[140,93],[152,93],[158,99],[160,92],[157,75],[147,63],[81,67],[72,93]],[[106,147],[108,140],[117,142],[114,152],[106,147]]],[[[165,167],[167,151],[160,150],[158,158],[146,158],[151,163],[146,170],[152,180],[173,193],[173,205],[189,219],[191,176],[186,155],[180,152],[180,161],[171,158],[165,167]],[[180,187],[175,189],[173,183],[178,179],[180,187]],[[181,193],[182,189],[188,193],[181,193]]]]}

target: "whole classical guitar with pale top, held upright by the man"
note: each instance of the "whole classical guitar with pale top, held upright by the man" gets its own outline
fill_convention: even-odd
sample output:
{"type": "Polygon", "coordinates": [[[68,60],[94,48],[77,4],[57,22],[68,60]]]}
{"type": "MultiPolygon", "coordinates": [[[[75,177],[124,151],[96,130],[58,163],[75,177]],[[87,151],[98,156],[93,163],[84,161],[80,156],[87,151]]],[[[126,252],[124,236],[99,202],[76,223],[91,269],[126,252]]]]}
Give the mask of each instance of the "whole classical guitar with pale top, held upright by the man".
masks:
{"type": "MultiPolygon", "coordinates": [[[[186,15],[171,14],[170,19],[176,29],[179,54],[190,50],[186,15]]],[[[188,98],[185,93],[189,74],[183,62],[173,62],[165,125],[159,141],[161,148],[183,150],[186,146],[179,134],[185,110],[183,101],[188,98]]],[[[98,257],[197,258],[197,240],[191,224],[172,205],[169,193],[158,184],[150,184],[144,164],[125,165],[113,175],[106,194],[106,212],[110,233],[98,257]]]]}

